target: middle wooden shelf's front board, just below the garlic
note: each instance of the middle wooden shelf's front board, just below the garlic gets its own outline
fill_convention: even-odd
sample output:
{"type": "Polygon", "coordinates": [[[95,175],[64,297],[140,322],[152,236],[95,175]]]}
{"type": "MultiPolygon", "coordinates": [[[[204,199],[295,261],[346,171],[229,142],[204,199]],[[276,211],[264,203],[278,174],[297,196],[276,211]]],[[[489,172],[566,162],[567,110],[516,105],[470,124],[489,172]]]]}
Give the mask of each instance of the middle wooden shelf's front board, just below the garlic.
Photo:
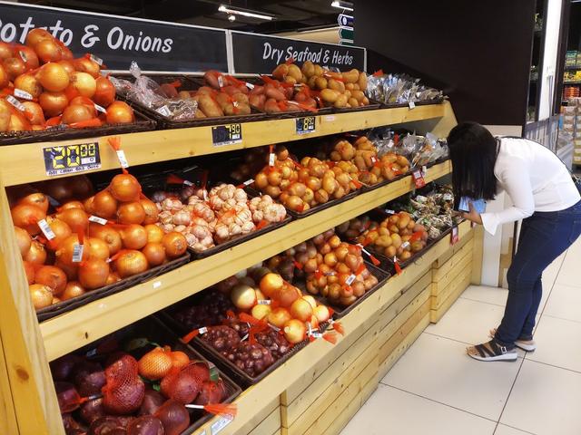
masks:
{"type": "MultiPolygon", "coordinates": [[[[433,181],[450,171],[451,164],[445,161],[429,168],[425,179],[427,182],[433,181]]],[[[337,206],[321,210],[310,217],[291,221],[284,227],[222,253],[193,261],[143,284],[47,320],[40,324],[40,330],[48,360],[52,361],[113,333],[330,227],[399,198],[414,188],[412,177],[404,177],[337,206]]]]}

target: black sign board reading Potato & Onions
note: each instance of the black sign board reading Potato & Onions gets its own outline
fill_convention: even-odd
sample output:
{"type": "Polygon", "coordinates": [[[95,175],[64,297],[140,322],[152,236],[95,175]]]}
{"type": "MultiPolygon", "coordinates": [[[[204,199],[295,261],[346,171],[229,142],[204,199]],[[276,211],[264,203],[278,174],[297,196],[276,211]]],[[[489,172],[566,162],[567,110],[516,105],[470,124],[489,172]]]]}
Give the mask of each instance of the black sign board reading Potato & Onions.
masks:
{"type": "Polygon", "coordinates": [[[6,3],[0,17],[2,41],[24,43],[32,28],[45,27],[75,55],[93,53],[112,70],[136,61],[145,71],[228,71],[220,29],[6,3]]]}

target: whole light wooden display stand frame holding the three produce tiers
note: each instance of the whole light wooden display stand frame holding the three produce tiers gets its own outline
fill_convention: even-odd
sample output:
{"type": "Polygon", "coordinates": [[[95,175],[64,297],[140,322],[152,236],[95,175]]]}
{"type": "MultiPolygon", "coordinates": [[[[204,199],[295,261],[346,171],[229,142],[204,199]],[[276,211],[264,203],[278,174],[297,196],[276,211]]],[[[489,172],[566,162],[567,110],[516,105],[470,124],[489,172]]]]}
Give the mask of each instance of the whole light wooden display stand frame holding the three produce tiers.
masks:
{"type": "MultiPolygon", "coordinates": [[[[415,131],[446,136],[456,120],[446,102],[415,109],[320,115],[316,130],[309,134],[297,134],[294,120],[250,122],[241,124],[242,143],[221,147],[212,145],[211,127],[126,134],[122,136],[122,146],[129,163],[135,165],[390,124],[405,124],[415,131]]],[[[91,141],[98,142],[101,151],[102,168],[98,170],[118,168],[107,138],[65,143],[91,141]]],[[[48,362],[414,189],[411,176],[404,177],[39,325],[4,187],[48,179],[42,159],[46,146],[49,143],[0,147],[2,434],[64,434],[48,362]]],[[[438,164],[428,169],[426,181],[440,179],[450,171],[449,162],[438,164]]],[[[429,320],[437,320],[468,285],[468,273],[452,276],[452,267],[467,265],[470,249],[477,244],[470,244],[473,230],[467,223],[459,226],[459,233],[457,247],[450,247],[448,237],[440,240],[341,319],[346,333],[339,343],[310,343],[257,385],[243,391],[236,400],[239,411],[235,420],[228,422],[217,417],[195,433],[338,433],[429,320]],[[446,256],[447,261],[441,260],[446,256]]]]}

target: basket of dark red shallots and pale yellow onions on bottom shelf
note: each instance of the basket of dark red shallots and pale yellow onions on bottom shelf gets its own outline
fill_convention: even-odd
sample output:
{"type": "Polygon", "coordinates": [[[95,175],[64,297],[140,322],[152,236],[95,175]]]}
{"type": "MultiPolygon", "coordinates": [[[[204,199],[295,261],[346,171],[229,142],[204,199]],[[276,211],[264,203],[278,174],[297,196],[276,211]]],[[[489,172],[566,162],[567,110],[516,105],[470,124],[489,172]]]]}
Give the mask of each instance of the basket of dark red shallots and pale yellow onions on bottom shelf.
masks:
{"type": "Polygon", "coordinates": [[[227,278],[198,303],[171,315],[192,329],[185,341],[199,336],[252,377],[308,338],[322,335],[334,343],[333,333],[319,332],[320,324],[330,320],[330,309],[262,266],[227,278]]]}

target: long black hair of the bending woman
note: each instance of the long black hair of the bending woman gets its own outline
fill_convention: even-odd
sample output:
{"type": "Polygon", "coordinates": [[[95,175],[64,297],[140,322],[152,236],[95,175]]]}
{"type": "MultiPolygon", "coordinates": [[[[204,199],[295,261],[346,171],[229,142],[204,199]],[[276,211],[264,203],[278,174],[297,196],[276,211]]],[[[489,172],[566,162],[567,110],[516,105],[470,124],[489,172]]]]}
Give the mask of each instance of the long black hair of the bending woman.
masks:
{"type": "Polygon", "coordinates": [[[478,122],[462,122],[448,134],[454,197],[494,199],[499,141],[478,122]]]}

